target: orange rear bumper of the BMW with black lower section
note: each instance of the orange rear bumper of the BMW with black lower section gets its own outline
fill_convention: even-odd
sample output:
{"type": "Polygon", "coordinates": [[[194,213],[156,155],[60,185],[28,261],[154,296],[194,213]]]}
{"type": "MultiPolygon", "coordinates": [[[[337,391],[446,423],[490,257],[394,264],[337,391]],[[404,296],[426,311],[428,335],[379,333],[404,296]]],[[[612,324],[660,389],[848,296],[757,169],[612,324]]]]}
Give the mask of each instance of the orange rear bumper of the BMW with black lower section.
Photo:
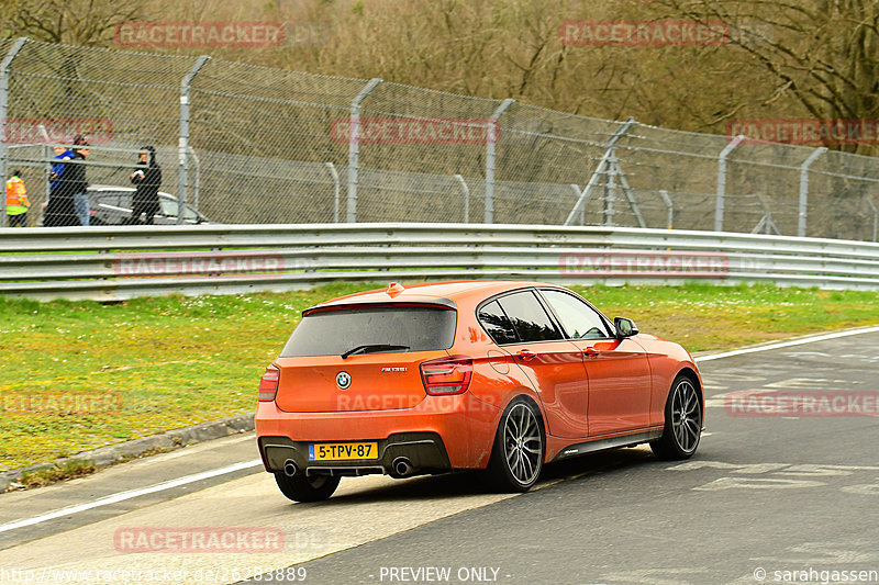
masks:
{"type": "Polygon", "coordinates": [[[412,408],[349,413],[287,413],[274,402],[260,402],[256,435],[269,472],[282,470],[283,462],[292,459],[300,470],[314,469],[312,473],[324,466],[351,472],[347,474],[393,474],[393,460],[407,457],[418,473],[432,473],[485,468],[500,413],[500,408],[469,392],[429,396],[412,408]],[[377,441],[379,459],[308,460],[309,443],[348,441],[377,441]],[[361,468],[361,472],[353,472],[355,468],[361,468]]]}

